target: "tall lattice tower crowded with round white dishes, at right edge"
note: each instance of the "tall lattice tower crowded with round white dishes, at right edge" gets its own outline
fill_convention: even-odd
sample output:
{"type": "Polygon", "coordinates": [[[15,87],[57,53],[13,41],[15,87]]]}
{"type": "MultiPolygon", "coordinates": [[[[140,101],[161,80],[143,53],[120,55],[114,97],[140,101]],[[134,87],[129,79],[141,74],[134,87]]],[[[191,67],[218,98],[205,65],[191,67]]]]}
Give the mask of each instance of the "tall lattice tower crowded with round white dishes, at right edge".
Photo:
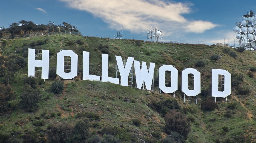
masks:
{"type": "Polygon", "coordinates": [[[256,21],[255,13],[250,10],[247,14],[242,16],[241,22],[236,22],[233,31],[236,38],[239,39],[239,48],[246,50],[256,50],[256,21]]]}

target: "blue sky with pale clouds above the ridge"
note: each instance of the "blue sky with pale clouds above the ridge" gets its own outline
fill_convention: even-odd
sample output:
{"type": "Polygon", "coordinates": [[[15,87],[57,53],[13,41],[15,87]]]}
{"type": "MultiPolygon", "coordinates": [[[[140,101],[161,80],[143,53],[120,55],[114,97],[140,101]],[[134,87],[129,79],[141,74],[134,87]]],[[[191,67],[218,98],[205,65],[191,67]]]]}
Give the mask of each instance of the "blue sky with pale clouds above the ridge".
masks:
{"type": "Polygon", "coordinates": [[[238,46],[233,27],[250,10],[256,12],[256,3],[238,0],[2,0],[0,27],[50,20],[67,22],[83,36],[114,38],[123,30],[123,38],[144,41],[156,28],[162,42],[238,46]]]}

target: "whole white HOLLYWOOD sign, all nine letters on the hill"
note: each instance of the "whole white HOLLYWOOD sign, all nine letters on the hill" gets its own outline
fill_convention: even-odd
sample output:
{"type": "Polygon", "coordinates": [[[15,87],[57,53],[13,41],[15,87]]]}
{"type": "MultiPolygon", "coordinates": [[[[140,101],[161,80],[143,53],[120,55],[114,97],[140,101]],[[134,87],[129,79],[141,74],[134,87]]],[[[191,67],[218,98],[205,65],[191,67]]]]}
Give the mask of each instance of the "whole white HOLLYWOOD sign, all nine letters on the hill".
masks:
{"type": "MultiPolygon", "coordinates": [[[[91,75],[89,73],[89,52],[83,51],[83,80],[102,81],[119,84],[118,78],[108,77],[108,54],[102,54],[102,67],[101,67],[101,80],[98,75],[91,75]]],[[[128,86],[128,77],[132,65],[134,65],[136,86],[141,89],[143,82],[146,89],[150,90],[152,86],[152,79],[155,70],[155,63],[150,63],[149,68],[146,62],[140,62],[134,60],[133,57],[128,57],[124,66],[122,57],[115,56],[117,66],[121,76],[120,85],[128,86]]],[[[57,53],[57,66],[56,73],[63,79],[72,79],[77,76],[78,55],[71,50],[62,50],[57,53]],[[71,71],[69,73],[64,72],[64,56],[71,57],[71,71]]],[[[28,56],[28,76],[35,76],[35,67],[42,68],[42,79],[48,79],[49,74],[49,50],[42,50],[42,60],[35,60],[35,49],[29,49],[28,56]]],[[[178,70],[171,65],[163,65],[159,69],[159,89],[165,93],[173,93],[178,90],[178,70]],[[165,71],[171,72],[171,87],[165,86],[165,71]]],[[[196,96],[201,92],[200,85],[200,72],[193,68],[187,68],[182,71],[182,92],[188,96],[196,96]],[[188,75],[194,75],[194,89],[188,88],[188,75]]],[[[231,74],[222,69],[212,69],[212,96],[213,97],[227,97],[231,94],[231,74]],[[219,75],[224,76],[224,91],[218,91],[219,75]]]]}

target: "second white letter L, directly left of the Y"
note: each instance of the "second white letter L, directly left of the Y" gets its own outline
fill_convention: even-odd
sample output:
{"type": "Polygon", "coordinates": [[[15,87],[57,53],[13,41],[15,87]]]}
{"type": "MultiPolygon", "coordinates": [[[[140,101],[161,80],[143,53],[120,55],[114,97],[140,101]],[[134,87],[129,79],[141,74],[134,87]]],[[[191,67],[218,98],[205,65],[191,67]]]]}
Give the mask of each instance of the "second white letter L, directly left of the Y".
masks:
{"type": "Polygon", "coordinates": [[[118,78],[108,77],[108,54],[102,54],[102,75],[101,81],[103,82],[111,82],[114,84],[119,84],[118,78]]]}

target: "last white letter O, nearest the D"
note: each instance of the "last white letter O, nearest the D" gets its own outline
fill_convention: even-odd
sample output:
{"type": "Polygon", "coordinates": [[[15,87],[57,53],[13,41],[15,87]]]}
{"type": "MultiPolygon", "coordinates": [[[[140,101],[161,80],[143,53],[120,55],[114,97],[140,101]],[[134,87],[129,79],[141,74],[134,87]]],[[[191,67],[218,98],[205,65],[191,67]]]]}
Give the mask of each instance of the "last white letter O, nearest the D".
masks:
{"type": "Polygon", "coordinates": [[[198,95],[200,91],[200,72],[198,72],[196,69],[192,68],[186,68],[184,71],[182,71],[182,92],[184,92],[188,96],[196,96],[198,95]],[[194,90],[188,89],[188,74],[194,75],[194,90]]]}

